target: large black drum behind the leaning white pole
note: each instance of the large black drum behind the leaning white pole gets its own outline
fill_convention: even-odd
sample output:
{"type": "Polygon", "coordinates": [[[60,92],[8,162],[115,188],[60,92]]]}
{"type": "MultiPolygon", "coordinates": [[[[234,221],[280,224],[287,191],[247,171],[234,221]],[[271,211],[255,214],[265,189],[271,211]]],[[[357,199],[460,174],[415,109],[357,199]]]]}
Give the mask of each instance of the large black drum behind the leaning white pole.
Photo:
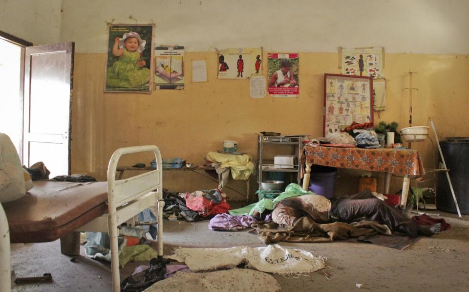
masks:
{"type": "MultiPolygon", "coordinates": [[[[449,169],[449,178],[461,214],[469,214],[469,137],[448,137],[447,140],[440,141],[440,147],[449,169]]],[[[438,210],[457,213],[444,172],[438,173],[436,207],[438,210]]]]}

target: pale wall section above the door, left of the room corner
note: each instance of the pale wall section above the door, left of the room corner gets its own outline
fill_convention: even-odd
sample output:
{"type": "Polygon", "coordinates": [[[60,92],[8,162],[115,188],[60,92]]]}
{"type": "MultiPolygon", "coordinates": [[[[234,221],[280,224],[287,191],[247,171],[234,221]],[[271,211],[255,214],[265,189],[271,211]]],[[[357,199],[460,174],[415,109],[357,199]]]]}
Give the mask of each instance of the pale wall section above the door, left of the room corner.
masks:
{"type": "Polygon", "coordinates": [[[62,0],[0,0],[0,30],[34,45],[60,42],[62,0]]]}

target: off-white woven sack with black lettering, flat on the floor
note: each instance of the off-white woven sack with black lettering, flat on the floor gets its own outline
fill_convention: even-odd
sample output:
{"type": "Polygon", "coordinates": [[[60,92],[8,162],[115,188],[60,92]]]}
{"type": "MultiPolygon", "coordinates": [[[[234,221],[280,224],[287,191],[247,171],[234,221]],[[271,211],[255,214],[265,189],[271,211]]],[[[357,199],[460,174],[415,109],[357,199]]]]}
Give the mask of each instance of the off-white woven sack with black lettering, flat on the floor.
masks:
{"type": "Polygon", "coordinates": [[[186,263],[192,271],[248,267],[276,274],[310,273],[324,268],[325,257],[301,250],[267,247],[176,248],[167,258],[186,263]]]}

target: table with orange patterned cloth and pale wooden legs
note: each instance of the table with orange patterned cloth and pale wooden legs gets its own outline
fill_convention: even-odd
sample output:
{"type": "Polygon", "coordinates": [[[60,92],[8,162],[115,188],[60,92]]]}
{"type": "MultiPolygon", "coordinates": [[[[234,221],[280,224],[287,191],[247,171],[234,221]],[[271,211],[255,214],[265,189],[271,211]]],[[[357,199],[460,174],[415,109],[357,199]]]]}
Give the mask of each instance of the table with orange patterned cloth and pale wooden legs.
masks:
{"type": "Polygon", "coordinates": [[[303,178],[303,189],[309,187],[311,165],[360,169],[384,172],[384,193],[389,193],[391,174],[403,176],[401,205],[405,206],[410,186],[410,178],[421,178],[425,168],[417,150],[390,148],[338,148],[311,147],[303,148],[302,161],[306,164],[303,178]]]}

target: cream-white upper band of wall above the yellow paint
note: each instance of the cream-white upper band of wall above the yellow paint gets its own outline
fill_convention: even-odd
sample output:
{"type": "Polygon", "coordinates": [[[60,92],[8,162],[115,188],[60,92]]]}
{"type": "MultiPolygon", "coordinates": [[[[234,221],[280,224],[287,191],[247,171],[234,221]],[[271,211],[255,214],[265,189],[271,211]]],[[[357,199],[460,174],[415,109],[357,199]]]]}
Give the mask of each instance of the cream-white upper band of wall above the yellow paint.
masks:
{"type": "Polygon", "coordinates": [[[35,44],[73,41],[81,53],[106,52],[106,22],[154,23],[155,44],[185,45],[189,51],[384,46],[388,53],[469,53],[469,0],[0,0],[0,5],[0,30],[35,44]]]}

